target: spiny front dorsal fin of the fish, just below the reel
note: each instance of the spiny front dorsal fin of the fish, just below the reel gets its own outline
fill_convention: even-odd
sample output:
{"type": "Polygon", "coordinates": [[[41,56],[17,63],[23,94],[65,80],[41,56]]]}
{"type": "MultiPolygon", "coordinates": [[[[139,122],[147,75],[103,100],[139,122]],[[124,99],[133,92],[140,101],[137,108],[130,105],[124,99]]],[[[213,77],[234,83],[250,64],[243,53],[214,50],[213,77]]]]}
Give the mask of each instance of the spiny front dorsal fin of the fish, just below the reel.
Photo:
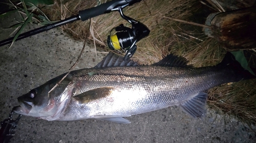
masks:
{"type": "Polygon", "coordinates": [[[95,68],[105,68],[105,67],[124,67],[124,66],[138,66],[136,62],[132,60],[123,61],[123,57],[110,52],[105,58],[95,66],[95,68]]]}

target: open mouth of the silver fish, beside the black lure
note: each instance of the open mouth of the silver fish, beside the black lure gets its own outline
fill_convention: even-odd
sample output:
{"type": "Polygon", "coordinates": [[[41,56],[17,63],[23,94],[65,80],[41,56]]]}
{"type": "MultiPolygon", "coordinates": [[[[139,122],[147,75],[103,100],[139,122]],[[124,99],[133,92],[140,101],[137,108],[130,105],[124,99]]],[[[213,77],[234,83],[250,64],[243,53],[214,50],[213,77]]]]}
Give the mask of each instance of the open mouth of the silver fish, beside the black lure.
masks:
{"type": "Polygon", "coordinates": [[[32,110],[32,102],[22,101],[20,102],[20,106],[15,106],[13,111],[19,113],[21,115],[28,114],[32,110]]]}

